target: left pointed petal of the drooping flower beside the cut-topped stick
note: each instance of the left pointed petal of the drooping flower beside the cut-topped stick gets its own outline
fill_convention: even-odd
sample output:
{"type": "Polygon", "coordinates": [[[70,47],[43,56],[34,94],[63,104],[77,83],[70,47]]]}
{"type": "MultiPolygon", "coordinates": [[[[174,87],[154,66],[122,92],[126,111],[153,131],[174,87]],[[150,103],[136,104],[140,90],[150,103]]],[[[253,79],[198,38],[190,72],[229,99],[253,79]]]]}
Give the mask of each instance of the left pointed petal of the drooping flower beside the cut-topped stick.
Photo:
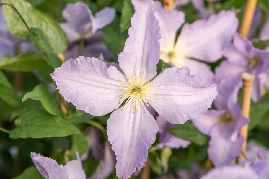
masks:
{"type": "Polygon", "coordinates": [[[203,134],[210,135],[213,126],[218,123],[219,116],[226,112],[225,110],[208,110],[199,119],[192,119],[194,126],[203,134]]]}

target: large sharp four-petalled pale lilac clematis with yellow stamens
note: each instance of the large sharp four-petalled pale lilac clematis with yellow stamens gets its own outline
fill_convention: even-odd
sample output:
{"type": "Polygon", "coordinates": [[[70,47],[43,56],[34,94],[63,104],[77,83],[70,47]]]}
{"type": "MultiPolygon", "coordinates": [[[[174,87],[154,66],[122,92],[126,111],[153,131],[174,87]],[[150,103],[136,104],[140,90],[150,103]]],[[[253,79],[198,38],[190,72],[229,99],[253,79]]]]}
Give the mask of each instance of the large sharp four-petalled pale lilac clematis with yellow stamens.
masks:
{"type": "Polygon", "coordinates": [[[118,55],[125,75],[114,66],[107,68],[102,60],[82,56],[69,59],[51,74],[63,98],[77,109],[93,116],[116,109],[107,121],[107,134],[120,179],[143,167],[155,141],[158,125],[145,106],[151,105],[172,124],[183,124],[205,113],[217,94],[216,84],[190,75],[186,67],[157,75],[160,29],[154,11],[146,3],[131,18],[129,37],[118,55]]]}

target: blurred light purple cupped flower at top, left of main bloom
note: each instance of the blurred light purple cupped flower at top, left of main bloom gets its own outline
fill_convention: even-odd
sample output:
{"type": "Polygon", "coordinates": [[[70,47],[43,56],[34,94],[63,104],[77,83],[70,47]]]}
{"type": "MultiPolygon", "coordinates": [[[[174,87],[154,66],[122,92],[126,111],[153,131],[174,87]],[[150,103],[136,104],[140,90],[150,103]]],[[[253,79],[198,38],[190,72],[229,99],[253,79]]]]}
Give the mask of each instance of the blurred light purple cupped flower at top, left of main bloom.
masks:
{"type": "Polygon", "coordinates": [[[105,7],[92,15],[92,11],[83,2],[68,3],[63,9],[62,16],[66,20],[61,23],[69,42],[87,39],[97,30],[110,24],[116,15],[113,8],[105,7]]]}

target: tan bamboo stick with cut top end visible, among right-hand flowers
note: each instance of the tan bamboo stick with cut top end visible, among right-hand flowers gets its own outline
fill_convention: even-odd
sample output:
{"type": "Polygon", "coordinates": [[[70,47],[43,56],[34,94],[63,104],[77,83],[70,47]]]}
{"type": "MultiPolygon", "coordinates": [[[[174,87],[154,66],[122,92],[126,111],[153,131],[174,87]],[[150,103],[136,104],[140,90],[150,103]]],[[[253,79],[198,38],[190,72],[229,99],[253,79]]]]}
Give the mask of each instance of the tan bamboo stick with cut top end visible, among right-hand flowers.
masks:
{"type": "MultiPolygon", "coordinates": [[[[255,76],[249,73],[243,73],[242,78],[243,78],[243,93],[242,93],[241,111],[242,111],[243,116],[245,116],[246,118],[249,118],[250,117],[251,88],[252,88],[252,83],[255,76]]],[[[244,136],[245,140],[242,145],[242,152],[239,155],[239,159],[244,158],[244,154],[246,153],[248,124],[243,126],[240,129],[240,133],[244,136]]]]}

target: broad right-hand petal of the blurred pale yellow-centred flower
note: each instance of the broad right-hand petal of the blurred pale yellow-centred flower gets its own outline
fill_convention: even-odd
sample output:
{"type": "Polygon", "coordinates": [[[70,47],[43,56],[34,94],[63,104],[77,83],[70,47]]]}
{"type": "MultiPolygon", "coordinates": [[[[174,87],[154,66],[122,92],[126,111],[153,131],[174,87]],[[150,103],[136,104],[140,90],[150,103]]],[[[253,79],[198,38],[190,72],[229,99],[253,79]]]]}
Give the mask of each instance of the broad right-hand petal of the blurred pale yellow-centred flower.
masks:
{"type": "Polygon", "coordinates": [[[230,42],[237,27],[238,19],[234,11],[221,11],[208,20],[196,20],[183,26],[176,49],[183,51],[187,57],[215,62],[222,57],[221,49],[230,42]]]}

